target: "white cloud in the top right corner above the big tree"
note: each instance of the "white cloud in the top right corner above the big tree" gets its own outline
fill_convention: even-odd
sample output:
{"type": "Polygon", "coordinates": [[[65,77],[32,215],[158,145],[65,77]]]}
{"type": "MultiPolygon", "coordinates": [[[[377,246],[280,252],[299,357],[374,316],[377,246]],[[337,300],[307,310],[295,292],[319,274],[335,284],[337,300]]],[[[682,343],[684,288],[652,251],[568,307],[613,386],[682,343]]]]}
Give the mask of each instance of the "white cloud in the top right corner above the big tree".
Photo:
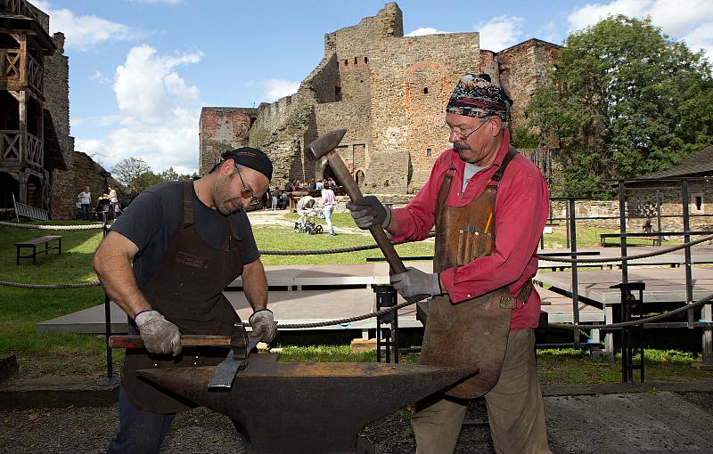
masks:
{"type": "Polygon", "coordinates": [[[684,40],[693,51],[704,49],[713,55],[713,2],[710,0],[614,0],[586,4],[567,16],[570,31],[594,25],[610,14],[624,14],[652,22],[664,33],[684,40]]]}

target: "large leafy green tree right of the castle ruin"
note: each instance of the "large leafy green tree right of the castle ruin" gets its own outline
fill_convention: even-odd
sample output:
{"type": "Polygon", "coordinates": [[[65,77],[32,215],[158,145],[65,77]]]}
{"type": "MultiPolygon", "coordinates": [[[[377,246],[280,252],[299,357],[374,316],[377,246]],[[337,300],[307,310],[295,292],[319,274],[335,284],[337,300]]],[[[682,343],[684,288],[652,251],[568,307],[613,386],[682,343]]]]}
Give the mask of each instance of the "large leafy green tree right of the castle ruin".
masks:
{"type": "Polygon", "coordinates": [[[525,113],[558,145],[558,192],[601,194],[602,180],[666,169],[713,142],[713,79],[702,53],[650,19],[611,16],[567,38],[525,113]]]}

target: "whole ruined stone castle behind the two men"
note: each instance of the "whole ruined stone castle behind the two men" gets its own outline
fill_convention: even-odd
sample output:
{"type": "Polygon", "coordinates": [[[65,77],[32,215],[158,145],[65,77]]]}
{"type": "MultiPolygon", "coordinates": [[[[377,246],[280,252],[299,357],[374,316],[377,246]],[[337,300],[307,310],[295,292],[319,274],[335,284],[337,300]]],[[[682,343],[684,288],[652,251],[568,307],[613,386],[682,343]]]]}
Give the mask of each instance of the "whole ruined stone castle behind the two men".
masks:
{"type": "MultiPolygon", "coordinates": [[[[449,148],[444,109],[458,78],[487,72],[502,82],[516,102],[512,122],[517,125],[529,96],[548,80],[558,49],[530,39],[493,53],[479,48],[476,32],[404,36],[402,12],[389,3],[373,17],[326,34],[323,60],[297,93],[258,107],[248,142],[274,159],[274,182],[283,186],[287,180],[329,175],[324,160],[317,162],[307,145],[346,127],[340,153],[353,174],[364,174],[363,191],[413,194],[449,148]]],[[[201,174],[207,172],[204,160],[214,159],[211,144],[244,141],[244,130],[226,137],[230,128],[203,120],[220,117],[225,109],[233,108],[201,112],[201,174]]]]}

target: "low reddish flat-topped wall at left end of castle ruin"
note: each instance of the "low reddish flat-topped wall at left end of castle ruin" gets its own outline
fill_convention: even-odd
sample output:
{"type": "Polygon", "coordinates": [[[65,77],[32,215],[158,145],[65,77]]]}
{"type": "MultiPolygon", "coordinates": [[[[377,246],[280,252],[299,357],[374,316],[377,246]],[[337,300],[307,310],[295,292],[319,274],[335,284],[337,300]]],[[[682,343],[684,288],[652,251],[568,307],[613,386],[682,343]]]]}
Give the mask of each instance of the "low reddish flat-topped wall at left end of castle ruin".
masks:
{"type": "Polygon", "coordinates": [[[199,174],[208,174],[226,150],[248,145],[250,126],[258,109],[204,107],[201,109],[199,174]]]}

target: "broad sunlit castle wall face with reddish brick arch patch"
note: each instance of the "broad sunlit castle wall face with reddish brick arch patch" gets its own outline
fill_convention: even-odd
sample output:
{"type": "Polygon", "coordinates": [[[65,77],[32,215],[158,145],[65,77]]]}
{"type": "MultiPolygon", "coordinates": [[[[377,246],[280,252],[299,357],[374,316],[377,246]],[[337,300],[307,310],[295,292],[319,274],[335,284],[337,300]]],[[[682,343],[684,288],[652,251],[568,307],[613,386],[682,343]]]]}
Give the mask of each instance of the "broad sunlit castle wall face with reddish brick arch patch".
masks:
{"type": "Polygon", "coordinates": [[[382,39],[371,54],[373,170],[367,186],[417,191],[449,148],[444,111],[458,78],[479,69],[479,35],[382,39]]]}

